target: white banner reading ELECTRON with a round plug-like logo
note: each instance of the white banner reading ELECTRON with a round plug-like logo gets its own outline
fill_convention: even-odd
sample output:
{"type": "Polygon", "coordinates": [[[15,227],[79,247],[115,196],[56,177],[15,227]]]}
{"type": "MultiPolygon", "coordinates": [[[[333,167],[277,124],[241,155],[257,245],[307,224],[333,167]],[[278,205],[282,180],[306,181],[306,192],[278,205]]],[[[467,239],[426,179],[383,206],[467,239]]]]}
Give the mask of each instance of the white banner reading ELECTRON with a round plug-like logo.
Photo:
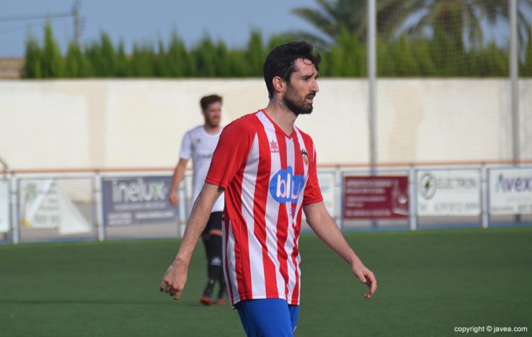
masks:
{"type": "Polygon", "coordinates": [[[418,215],[479,215],[479,170],[422,170],[417,172],[418,215]]]}

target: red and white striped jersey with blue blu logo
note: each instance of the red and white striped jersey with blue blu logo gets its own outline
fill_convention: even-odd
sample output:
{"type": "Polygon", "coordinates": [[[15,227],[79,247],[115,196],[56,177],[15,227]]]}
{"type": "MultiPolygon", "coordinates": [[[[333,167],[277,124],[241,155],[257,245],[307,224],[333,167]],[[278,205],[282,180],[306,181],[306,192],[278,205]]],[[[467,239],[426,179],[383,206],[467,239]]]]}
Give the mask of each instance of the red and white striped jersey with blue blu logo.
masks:
{"type": "Polygon", "coordinates": [[[206,177],[224,188],[224,272],[244,299],[299,304],[301,206],[321,202],[312,139],[285,133],[263,111],[224,128],[206,177]]]}

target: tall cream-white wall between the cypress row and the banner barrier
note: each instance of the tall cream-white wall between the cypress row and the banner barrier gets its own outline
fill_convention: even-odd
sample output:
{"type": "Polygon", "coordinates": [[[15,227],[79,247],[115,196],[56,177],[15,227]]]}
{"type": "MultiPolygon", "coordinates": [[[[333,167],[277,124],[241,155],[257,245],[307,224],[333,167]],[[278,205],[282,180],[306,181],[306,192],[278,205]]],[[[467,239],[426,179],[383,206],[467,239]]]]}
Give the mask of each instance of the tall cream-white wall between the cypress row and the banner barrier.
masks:
{"type": "MultiPolygon", "coordinates": [[[[532,159],[532,80],[519,83],[521,154],[532,159]]],[[[367,82],[320,79],[297,125],[319,163],[367,163],[367,82]]],[[[510,160],[510,82],[379,79],[381,163],[510,160]]],[[[267,105],[262,79],[0,81],[0,157],[10,167],[172,167],[199,98],[224,97],[223,123],[267,105]]]]}

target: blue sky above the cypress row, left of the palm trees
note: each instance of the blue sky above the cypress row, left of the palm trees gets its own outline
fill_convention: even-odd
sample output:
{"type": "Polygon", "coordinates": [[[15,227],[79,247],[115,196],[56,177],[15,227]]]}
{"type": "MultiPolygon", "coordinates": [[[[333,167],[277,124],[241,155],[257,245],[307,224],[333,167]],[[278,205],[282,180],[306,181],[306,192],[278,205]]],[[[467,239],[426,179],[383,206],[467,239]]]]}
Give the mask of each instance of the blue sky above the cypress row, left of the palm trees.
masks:
{"type": "MultiPolygon", "coordinates": [[[[31,31],[42,41],[44,19],[7,21],[13,17],[46,17],[72,13],[74,0],[0,0],[0,57],[24,56],[24,41],[31,31]]],[[[244,46],[251,29],[263,36],[289,30],[317,32],[312,25],[290,14],[296,7],[317,8],[313,0],[81,0],[82,44],[108,33],[126,52],[134,43],[167,42],[177,31],[188,47],[206,34],[228,47],[244,46]]],[[[74,19],[53,19],[53,35],[64,52],[74,37],[74,19]]]]}

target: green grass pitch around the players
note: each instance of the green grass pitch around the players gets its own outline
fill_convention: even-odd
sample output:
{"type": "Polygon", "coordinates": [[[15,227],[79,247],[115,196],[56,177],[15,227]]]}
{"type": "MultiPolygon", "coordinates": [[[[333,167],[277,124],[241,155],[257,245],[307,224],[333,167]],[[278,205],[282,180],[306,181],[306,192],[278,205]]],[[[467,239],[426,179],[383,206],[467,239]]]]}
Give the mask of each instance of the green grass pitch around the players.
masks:
{"type": "MultiPolygon", "coordinates": [[[[531,227],[345,235],[379,289],[364,299],[349,266],[314,235],[301,236],[296,336],[457,336],[454,327],[479,325],[528,327],[510,335],[532,335],[531,227]]],[[[182,299],[159,292],[177,247],[0,246],[0,336],[244,336],[230,306],[199,304],[201,244],[182,299]]]]}

